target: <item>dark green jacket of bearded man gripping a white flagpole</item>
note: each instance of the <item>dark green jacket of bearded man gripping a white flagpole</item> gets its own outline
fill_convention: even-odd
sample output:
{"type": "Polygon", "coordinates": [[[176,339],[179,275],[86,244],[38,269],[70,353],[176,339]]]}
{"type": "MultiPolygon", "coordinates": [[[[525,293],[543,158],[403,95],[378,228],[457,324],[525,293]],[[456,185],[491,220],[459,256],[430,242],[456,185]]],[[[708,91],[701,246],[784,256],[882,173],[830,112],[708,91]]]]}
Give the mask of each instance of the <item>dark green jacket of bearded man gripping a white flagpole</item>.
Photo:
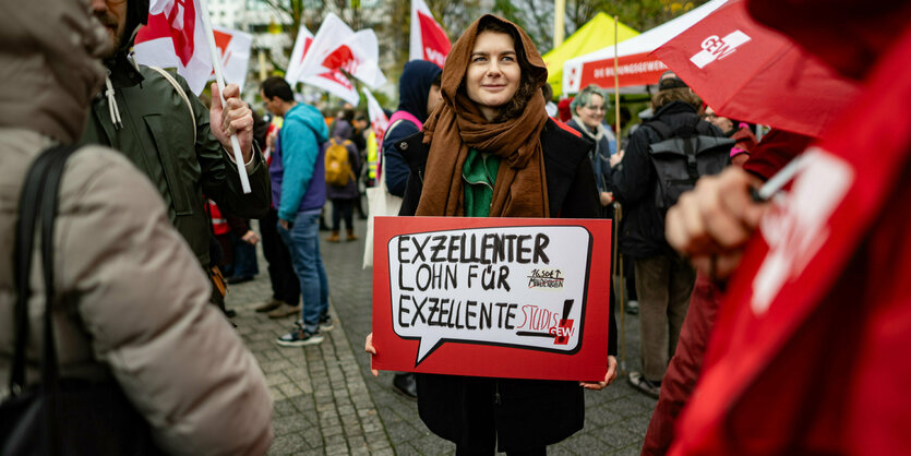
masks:
{"type": "Polygon", "coordinates": [[[107,98],[96,97],[82,144],[117,149],[148,177],[175,228],[207,266],[211,235],[203,193],[239,217],[265,215],[269,207],[265,160],[254,151],[247,167],[252,192],[244,194],[233,159],[209,130],[208,109],[183,77],[172,74],[193,106],[194,119],[183,98],[157,72],[145,65],[136,68],[123,56],[110,63],[109,70],[123,128],[118,130],[111,122],[107,98]],[[191,122],[196,124],[195,137],[191,122]]]}

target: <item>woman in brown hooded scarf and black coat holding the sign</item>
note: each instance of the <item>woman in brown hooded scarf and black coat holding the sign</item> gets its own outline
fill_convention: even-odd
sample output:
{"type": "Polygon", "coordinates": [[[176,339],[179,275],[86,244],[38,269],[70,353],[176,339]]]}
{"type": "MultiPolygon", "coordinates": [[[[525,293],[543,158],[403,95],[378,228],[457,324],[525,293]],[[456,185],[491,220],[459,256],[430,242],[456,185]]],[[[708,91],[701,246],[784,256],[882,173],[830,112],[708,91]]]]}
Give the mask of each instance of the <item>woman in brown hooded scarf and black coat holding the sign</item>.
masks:
{"type": "MultiPolygon", "coordinates": [[[[399,141],[410,175],[400,215],[597,218],[591,144],[548,118],[547,69],[525,31],[484,15],[453,46],[443,101],[399,141]]],[[[616,373],[613,309],[609,368],[616,373]]],[[[367,351],[375,353],[372,335],[367,351]]],[[[457,454],[544,454],[583,427],[579,382],[418,374],[418,408],[457,454]]]]}

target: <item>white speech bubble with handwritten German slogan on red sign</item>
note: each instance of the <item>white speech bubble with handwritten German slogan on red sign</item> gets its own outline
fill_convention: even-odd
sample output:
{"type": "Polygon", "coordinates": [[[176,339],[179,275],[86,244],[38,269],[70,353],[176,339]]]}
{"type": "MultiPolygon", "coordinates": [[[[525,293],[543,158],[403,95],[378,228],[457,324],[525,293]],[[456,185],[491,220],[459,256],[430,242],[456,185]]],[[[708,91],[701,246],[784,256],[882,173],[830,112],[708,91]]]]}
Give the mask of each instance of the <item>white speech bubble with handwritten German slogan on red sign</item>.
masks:
{"type": "Polygon", "coordinates": [[[400,235],[387,245],[396,335],[415,365],[445,343],[579,349],[591,233],[522,226],[400,235]]]}

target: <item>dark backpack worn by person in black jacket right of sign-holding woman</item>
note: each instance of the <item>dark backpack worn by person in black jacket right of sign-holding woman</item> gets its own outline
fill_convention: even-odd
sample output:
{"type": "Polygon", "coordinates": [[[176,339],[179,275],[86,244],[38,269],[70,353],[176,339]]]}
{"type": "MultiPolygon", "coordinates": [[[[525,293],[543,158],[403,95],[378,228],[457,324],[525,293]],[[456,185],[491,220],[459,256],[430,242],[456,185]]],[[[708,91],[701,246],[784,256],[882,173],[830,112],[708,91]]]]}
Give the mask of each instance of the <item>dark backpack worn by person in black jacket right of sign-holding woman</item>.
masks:
{"type": "Polygon", "coordinates": [[[658,175],[655,206],[662,216],[683,192],[693,190],[700,177],[717,175],[731,161],[734,141],[705,134],[699,122],[696,119],[695,123],[673,131],[659,120],[644,123],[661,136],[661,141],[649,145],[648,156],[658,175]]]}

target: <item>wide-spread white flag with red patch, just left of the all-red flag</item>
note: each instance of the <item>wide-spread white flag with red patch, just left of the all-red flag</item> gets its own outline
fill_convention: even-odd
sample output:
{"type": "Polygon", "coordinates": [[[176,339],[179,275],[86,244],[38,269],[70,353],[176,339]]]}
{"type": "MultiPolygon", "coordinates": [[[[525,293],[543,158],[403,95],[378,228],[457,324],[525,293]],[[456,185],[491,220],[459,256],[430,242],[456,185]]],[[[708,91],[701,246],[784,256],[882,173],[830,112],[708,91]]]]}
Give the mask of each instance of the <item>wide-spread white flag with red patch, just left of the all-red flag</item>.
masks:
{"type": "Polygon", "coordinates": [[[329,13],[307,49],[298,77],[335,70],[344,70],[370,87],[386,82],[386,76],[380,70],[376,34],[370,28],[355,33],[341,19],[329,13]]]}

